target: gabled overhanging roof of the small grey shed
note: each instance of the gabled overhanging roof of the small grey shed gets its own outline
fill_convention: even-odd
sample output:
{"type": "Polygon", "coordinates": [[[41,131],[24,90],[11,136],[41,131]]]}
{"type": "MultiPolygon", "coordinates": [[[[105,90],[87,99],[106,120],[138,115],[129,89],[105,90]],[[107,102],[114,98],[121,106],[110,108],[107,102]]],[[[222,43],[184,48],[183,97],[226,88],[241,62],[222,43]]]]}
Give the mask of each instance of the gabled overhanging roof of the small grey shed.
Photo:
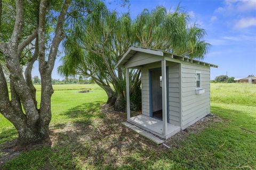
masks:
{"type": "Polygon", "coordinates": [[[155,54],[155,55],[159,55],[159,56],[164,56],[164,54],[170,54],[170,58],[173,58],[173,59],[178,59],[178,60],[189,62],[189,63],[195,63],[195,64],[198,64],[198,65],[218,68],[217,65],[207,63],[207,62],[203,62],[203,61],[199,61],[199,60],[189,59],[186,56],[181,56],[181,55],[169,53],[169,52],[166,52],[166,51],[163,51],[163,50],[156,50],[156,49],[153,49],[153,48],[145,48],[145,47],[138,47],[138,46],[130,46],[128,48],[128,50],[124,53],[122,58],[117,62],[115,68],[120,67],[120,66],[124,66],[125,63],[127,61],[129,61],[129,59],[136,52],[144,52],[144,53],[155,54]]]}

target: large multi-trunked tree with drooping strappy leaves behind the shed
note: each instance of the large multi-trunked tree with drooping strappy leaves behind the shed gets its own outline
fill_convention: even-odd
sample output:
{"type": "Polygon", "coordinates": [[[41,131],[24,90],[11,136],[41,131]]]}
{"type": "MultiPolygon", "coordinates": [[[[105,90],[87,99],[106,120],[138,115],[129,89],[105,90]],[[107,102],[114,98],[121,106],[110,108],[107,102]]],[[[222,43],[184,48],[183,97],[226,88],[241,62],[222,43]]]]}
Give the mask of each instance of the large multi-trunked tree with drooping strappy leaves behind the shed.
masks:
{"type": "MultiPolygon", "coordinates": [[[[189,27],[188,18],[179,7],[168,13],[158,6],[151,12],[144,10],[133,22],[129,13],[119,17],[101,3],[90,17],[71,22],[72,29],[64,43],[66,55],[58,71],[65,76],[91,77],[106,91],[107,103],[114,105],[115,110],[125,110],[125,72],[115,69],[115,64],[130,45],[157,48],[190,58],[203,58],[207,53],[210,44],[202,40],[204,29],[196,25],[189,27]]],[[[130,72],[132,106],[141,106],[140,74],[139,69],[130,72]]]]}

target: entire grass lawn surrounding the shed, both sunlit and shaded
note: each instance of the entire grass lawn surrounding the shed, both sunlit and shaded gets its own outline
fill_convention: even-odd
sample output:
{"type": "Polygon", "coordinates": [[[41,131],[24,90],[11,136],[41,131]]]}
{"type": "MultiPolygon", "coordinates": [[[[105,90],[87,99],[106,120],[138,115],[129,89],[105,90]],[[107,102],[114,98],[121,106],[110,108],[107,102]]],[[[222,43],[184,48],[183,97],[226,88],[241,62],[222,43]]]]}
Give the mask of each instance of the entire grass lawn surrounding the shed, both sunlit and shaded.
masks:
{"type": "MultiPolygon", "coordinates": [[[[22,152],[2,169],[256,169],[256,85],[211,84],[211,112],[222,121],[171,149],[121,126],[124,113],[102,114],[107,96],[100,87],[54,89],[52,145],[22,152]],[[78,93],[82,88],[92,92],[78,93]]],[[[0,122],[1,146],[17,133],[1,115],[0,122]]]]}

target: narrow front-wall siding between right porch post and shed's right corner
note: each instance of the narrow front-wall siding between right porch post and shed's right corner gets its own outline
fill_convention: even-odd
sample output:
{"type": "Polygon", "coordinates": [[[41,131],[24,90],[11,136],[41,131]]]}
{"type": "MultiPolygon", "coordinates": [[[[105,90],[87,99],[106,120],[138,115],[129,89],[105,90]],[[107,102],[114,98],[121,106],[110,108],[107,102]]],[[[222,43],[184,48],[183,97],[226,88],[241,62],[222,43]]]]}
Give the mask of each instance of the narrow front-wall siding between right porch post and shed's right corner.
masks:
{"type": "Polygon", "coordinates": [[[180,72],[179,63],[168,63],[169,70],[169,122],[180,126],[180,72]]]}

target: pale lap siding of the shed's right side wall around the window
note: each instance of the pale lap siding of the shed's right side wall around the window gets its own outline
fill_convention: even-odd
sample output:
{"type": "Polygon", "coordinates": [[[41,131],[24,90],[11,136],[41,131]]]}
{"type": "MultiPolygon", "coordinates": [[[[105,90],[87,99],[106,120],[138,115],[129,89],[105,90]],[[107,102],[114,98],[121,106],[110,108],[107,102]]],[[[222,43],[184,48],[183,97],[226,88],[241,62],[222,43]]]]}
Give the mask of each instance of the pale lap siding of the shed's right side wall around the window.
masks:
{"type": "Polygon", "coordinates": [[[182,129],[210,113],[210,67],[181,64],[182,129]],[[196,71],[201,72],[203,94],[196,94],[196,71]]]}

